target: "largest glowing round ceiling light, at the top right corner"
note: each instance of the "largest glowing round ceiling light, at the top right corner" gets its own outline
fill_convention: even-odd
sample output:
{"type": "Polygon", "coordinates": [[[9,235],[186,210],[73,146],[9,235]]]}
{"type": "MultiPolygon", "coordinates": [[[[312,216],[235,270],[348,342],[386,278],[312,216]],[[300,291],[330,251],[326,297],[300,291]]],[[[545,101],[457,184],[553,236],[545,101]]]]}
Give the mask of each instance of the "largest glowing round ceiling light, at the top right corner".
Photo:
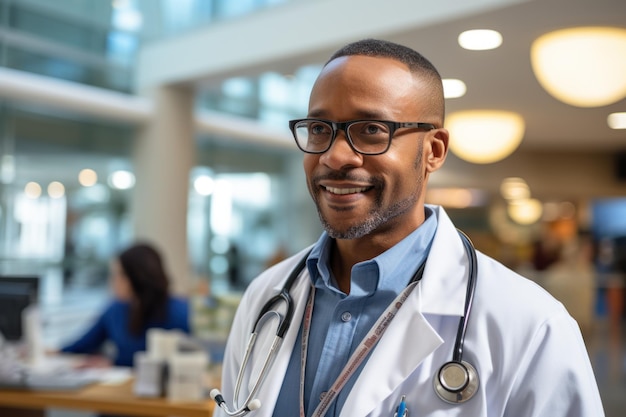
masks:
{"type": "Polygon", "coordinates": [[[530,58],[539,84],[564,103],[599,107],[626,97],[626,29],[547,33],[533,42],[530,58]]]}

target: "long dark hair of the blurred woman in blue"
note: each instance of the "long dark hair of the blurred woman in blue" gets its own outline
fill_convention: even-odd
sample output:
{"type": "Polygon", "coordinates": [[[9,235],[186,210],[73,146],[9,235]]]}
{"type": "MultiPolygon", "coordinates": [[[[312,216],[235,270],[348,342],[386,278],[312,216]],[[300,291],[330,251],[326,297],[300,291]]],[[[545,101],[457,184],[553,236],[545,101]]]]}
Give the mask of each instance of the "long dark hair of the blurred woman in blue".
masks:
{"type": "Polygon", "coordinates": [[[149,323],[165,320],[169,280],[161,254],[150,244],[135,244],[122,251],[118,259],[134,294],[128,328],[139,335],[149,323]]]}

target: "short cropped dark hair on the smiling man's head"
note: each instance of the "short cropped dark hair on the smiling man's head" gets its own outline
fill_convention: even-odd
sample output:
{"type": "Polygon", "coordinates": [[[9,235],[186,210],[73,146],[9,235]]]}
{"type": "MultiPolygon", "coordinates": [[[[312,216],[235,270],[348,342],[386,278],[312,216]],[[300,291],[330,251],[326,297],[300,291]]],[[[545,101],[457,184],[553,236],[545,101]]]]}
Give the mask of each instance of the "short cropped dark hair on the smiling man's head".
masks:
{"type": "Polygon", "coordinates": [[[363,39],[349,43],[337,50],[324,64],[328,65],[334,59],[351,56],[364,55],[371,57],[391,58],[405,64],[411,73],[425,77],[432,88],[432,104],[434,110],[440,112],[443,123],[445,113],[445,102],[443,97],[443,85],[441,75],[437,68],[422,54],[407,46],[380,39],[363,39]]]}

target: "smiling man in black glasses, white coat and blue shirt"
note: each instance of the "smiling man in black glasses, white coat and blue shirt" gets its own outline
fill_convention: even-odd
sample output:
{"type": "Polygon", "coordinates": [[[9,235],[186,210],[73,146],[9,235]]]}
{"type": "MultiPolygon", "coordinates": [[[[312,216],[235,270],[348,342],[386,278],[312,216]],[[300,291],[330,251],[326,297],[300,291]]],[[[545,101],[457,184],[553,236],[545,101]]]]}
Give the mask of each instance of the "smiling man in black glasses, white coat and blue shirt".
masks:
{"type": "MultiPolygon", "coordinates": [[[[364,40],[324,66],[308,118],[290,127],[305,152],[307,184],[325,232],[310,253],[270,268],[247,289],[224,360],[223,397],[231,411],[603,415],[580,331],[563,306],[474,255],[445,211],[425,205],[428,178],[448,151],[443,123],[441,77],[409,48],[364,40]],[[244,363],[248,337],[294,269],[293,319],[263,376],[279,317],[264,316],[244,363]],[[464,343],[463,316],[469,316],[464,343]]],[[[272,311],[289,317],[286,304],[272,311]]]]}

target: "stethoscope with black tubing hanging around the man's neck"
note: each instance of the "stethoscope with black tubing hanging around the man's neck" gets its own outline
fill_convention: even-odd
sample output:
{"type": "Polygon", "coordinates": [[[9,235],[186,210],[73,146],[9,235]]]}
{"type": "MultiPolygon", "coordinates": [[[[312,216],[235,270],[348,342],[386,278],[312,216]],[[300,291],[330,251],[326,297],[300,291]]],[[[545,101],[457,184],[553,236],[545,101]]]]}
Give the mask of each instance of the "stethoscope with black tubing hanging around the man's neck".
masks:
{"type": "MultiPolygon", "coordinates": [[[[463,242],[463,246],[465,248],[469,263],[469,278],[467,281],[467,289],[465,293],[465,306],[463,310],[463,316],[461,316],[457,328],[456,340],[452,353],[452,360],[444,363],[433,377],[433,387],[435,389],[435,392],[437,393],[437,396],[449,404],[460,404],[466,402],[467,400],[472,398],[474,394],[476,394],[479,385],[478,372],[476,372],[476,369],[470,363],[463,360],[463,344],[465,341],[465,333],[467,330],[469,315],[472,309],[474,293],[476,290],[476,250],[474,249],[474,245],[472,245],[472,242],[467,237],[467,235],[465,235],[465,233],[461,232],[460,230],[458,232],[459,236],[461,237],[461,241],[463,242]]],[[[289,277],[287,278],[287,281],[285,282],[283,288],[278,294],[270,298],[267,303],[265,303],[256,319],[254,328],[252,330],[252,333],[250,334],[250,338],[248,339],[248,345],[246,347],[241,367],[239,368],[239,372],[237,374],[233,401],[233,407],[235,409],[231,410],[228,407],[228,405],[226,404],[226,400],[224,400],[222,393],[218,389],[211,390],[211,398],[215,400],[217,405],[222,408],[222,410],[224,410],[227,415],[240,417],[261,407],[261,401],[255,398],[255,396],[261,388],[263,380],[269,373],[272,363],[274,362],[274,359],[278,354],[278,349],[280,348],[280,345],[283,341],[283,337],[287,332],[287,329],[289,329],[289,326],[291,325],[291,321],[293,319],[293,300],[289,292],[291,291],[291,288],[296,279],[300,276],[300,273],[305,268],[308,256],[309,254],[307,253],[305,256],[302,257],[302,259],[289,274],[289,277]],[[284,303],[286,306],[286,312],[284,314],[279,313],[275,309],[276,305],[279,303],[284,303]],[[265,357],[263,366],[261,367],[261,370],[256,377],[254,384],[252,385],[250,393],[243,401],[243,403],[239,405],[238,400],[241,385],[243,383],[243,377],[246,367],[248,365],[248,361],[250,359],[250,355],[252,353],[252,349],[256,343],[256,339],[261,328],[271,318],[278,319],[278,328],[276,330],[276,335],[274,336],[274,340],[270,345],[270,349],[265,357]]],[[[422,264],[422,266],[415,273],[415,275],[411,279],[411,282],[419,281],[422,277],[423,271],[424,264],[422,264]]],[[[408,409],[405,406],[404,397],[401,400],[400,406],[398,406],[398,408],[396,409],[396,415],[398,417],[408,415],[408,409]]]]}

